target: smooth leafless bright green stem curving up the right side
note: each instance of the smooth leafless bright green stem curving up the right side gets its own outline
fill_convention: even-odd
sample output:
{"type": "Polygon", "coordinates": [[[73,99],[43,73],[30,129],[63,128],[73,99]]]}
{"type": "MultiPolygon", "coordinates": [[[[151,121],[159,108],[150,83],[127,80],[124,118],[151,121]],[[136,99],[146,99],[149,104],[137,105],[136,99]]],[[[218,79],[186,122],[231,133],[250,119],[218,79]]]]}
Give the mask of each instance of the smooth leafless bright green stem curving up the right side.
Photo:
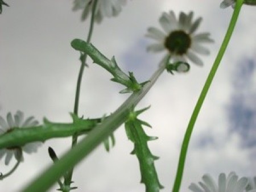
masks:
{"type": "Polygon", "coordinates": [[[187,155],[187,149],[189,140],[193,131],[193,127],[195,125],[197,116],[199,114],[199,111],[201,109],[201,106],[203,105],[204,99],[207,95],[207,92],[209,90],[210,85],[212,84],[212,80],[214,78],[214,75],[218,69],[218,65],[220,64],[220,61],[222,59],[222,56],[224,55],[224,52],[226,50],[226,47],[228,46],[230,37],[232,36],[232,33],[234,31],[234,27],[236,26],[237,18],[240,13],[241,7],[242,7],[243,0],[237,0],[236,7],[234,9],[232,18],[230,20],[230,24],[228,27],[228,30],[226,31],[226,35],[224,37],[224,40],[222,42],[220,51],[218,51],[218,55],[216,57],[216,60],[214,61],[214,64],[212,66],[212,69],[210,70],[210,73],[207,77],[207,81],[204,84],[203,90],[201,91],[200,97],[196,103],[196,107],[192,113],[191,119],[189,120],[187,131],[185,132],[183,143],[181,146],[180,151],[180,158],[179,158],[179,165],[177,167],[177,173],[176,178],[174,182],[174,188],[172,189],[173,192],[178,192],[180,189],[181,180],[183,177],[183,170],[184,170],[184,164],[185,164],[185,158],[187,155]]]}

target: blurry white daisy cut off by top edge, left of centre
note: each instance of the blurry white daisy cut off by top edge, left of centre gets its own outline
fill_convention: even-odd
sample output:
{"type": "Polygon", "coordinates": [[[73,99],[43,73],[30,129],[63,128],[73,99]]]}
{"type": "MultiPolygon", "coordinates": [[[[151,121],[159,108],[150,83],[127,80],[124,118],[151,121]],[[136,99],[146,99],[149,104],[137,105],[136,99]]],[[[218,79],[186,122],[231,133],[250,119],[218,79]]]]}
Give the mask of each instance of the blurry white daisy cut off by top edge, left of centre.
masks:
{"type": "MultiPolygon", "coordinates": [[[[126,0],[98,0],[95,11],[95,20],[100,23],[102,19],[112,16],[117,16],[125,5],[126,0]]],[[[88,18],[89,12],[92,11],[93,0],[75,0],[73,11],[82,9],[82,20],[88,18]]]]}

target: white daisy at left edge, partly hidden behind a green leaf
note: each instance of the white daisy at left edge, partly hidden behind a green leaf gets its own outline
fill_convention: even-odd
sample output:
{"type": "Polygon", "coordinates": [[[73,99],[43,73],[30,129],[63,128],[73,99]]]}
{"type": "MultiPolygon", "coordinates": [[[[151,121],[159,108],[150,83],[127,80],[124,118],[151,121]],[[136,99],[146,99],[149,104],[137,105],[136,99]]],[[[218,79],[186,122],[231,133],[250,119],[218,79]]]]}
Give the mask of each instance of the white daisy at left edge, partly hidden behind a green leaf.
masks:
{"type": "MultiPolygon", "coordinates": [[[[11,132],[16,128],[28,128],[38,125],[38,121],[34,119],[34,116],[30,116],[24,120],[24,114],[21,111],[17,111],[14,116],[9,112],[6,116],[6,120],[0,116],[0,135],[11,132]]],[[[14,156],[17,161],[23,161],[22,152],[32,153],[36,152],[38,147],[42,145],[41,142],[28,143],[22,147],[10,147],[0,149],[0,160],[5,157],[5,165],[8,165],[11,158],[14,156]]]]}

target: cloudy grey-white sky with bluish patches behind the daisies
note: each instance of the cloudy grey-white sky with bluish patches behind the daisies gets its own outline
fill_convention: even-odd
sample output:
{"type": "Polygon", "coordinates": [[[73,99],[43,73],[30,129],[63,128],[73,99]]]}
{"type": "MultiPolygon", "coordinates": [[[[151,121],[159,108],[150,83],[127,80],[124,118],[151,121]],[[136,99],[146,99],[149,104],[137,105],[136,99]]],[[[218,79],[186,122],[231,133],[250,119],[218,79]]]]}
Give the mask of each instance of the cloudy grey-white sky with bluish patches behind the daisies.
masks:
{"type": "MultiPolygon", "coordinates": [[[[72,39],[86,39],[89,20],[81,22],[81,11],[72,11],[73,1],[6,1],[0,15],[0,115],[24,111],[42,121],[71,122],[79,53],[70,46],[72,39]]],[[[221,1],[141,0],[127,1],[115,18],[105,18],[94,27],[92,43],[106,57],[113,55],[125,72],[132,71],[138,81],[146,81],[158,67],[163,54],[147,53],[148,27],[160,27],[163,11],[195,11],[203,16],[198,32],[210,32],[214,44],[202,56],[204,66],[191,64],[186,74],[163,73],[137,109],[151,105],[140,119],[151,124],[148,135],[158,136],[149,143],[161,190],[171,191],[180,146],[189,118],[220,48],[233,9],[220,9],[221,1]]],[[[220,173],[234,171],[238,176],[256,172],[256,44],[255,7],[243,6],[230,44],[221,61],[192,133],[185,163],[181,192],[205,173],[217,180],[220,173]]],[[[88,60],[81,86],[79,115],[101,117],[115,111],[129,95],[112,76],[88,60]]],[[[130,155],[133,144],[121,126],[114,133],[116,145],[108,153],[100,145],[76,166],[73,181],[76,191],[141,192],[137,158],[130,155]]],[[[51,139],[38,153],[24,155],[18,170],[0,182],[0,191],[19,191],[31,178],[52,164],[47,154],[51,146],[61,156],[71,139],[51,139]],[[15,182],[14,182],[15,181],[15,182]]],[[[15,161],[11,162],[14,165],[15,161]]],[[[0,172],[7,172],[0,161],[0,172]]],[[[55,191],[55,185],[49,191],[55,191]]],[[[75,190],[74,190],[75,191],[75,190]]]]}

